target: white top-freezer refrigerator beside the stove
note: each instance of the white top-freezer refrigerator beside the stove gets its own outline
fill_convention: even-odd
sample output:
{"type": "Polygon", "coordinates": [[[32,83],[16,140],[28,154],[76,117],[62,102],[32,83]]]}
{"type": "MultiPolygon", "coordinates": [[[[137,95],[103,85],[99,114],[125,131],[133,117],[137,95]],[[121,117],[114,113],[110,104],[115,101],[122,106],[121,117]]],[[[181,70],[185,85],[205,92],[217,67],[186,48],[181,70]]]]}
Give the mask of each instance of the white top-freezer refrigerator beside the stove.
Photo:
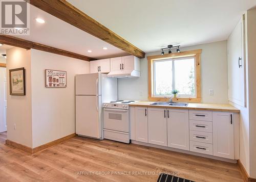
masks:
{"type": "Polygon", "coordinates": [[[102,103],[117,100],[117,79],[106,74],[75,76],[76,134],[102,140],[102,103]]]}

